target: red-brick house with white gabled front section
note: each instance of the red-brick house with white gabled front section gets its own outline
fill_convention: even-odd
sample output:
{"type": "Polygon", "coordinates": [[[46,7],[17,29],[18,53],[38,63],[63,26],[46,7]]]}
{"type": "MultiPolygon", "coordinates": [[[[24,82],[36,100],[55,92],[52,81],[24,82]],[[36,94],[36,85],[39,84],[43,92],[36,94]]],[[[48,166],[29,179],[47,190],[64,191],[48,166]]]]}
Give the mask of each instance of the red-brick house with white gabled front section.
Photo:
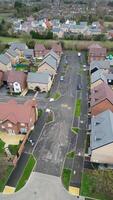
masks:
{"type": "Polygon", "coordinates": [[[27,88],[27,75],[21,71],[11,70],[7,75],[7,85],[11,93],[21,93],[27,88]]]}

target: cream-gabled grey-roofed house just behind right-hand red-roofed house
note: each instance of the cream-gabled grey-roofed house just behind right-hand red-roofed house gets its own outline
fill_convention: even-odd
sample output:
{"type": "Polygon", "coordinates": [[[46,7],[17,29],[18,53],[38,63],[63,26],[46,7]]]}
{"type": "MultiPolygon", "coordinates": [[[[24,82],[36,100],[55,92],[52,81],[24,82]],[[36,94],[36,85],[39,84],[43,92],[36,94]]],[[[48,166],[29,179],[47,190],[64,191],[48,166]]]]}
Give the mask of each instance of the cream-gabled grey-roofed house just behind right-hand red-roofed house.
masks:
{"type": "Polygon", "coordinates": [[[107,78],[104,74],[104,70],[99,69],[91,75],[91,89],[103,82],[107,84],[107,78]]]}

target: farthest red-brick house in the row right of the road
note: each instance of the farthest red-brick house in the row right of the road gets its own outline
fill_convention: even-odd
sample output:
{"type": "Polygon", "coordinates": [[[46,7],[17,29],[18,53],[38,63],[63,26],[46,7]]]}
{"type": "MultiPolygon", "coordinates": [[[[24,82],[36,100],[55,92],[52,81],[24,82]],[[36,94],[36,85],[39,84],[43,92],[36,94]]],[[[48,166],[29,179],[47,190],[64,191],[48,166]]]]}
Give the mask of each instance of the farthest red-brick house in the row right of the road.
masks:
{"type": "Polygon", "coordinates": [[[91,63],[92,61],[96,60],[104,60],[107,55],[106,48],[101,47],[100,45],[91,45],[89,48],[89,54],[88,54],[88,63],[91,63]]]}

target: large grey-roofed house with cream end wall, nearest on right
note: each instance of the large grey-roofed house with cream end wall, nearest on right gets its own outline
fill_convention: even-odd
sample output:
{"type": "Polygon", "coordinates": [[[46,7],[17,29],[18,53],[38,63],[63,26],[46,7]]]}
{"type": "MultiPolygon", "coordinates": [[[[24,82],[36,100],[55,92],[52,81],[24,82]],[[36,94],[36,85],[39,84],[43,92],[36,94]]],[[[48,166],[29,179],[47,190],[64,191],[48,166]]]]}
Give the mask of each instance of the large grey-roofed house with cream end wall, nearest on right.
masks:
{"type": "Polygon", "coordinates": [[[91,119],[91,161],[113,164],[113,113],[106,110],[91,119]]]}

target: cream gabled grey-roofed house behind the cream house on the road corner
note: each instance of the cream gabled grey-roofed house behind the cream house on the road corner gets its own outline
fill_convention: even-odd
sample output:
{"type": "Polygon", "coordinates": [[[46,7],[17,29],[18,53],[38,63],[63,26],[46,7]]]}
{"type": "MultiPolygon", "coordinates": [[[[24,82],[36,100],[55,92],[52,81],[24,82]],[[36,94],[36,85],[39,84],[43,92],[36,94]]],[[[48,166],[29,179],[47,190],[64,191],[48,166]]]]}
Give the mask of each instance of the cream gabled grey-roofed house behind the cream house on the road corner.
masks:
{"type": "Polygon", "coordinates": [[[39,64],[38,72],[48,72],[53,77],[57,73],[58,63],[52,56],[48,56],[39,64]]]}

